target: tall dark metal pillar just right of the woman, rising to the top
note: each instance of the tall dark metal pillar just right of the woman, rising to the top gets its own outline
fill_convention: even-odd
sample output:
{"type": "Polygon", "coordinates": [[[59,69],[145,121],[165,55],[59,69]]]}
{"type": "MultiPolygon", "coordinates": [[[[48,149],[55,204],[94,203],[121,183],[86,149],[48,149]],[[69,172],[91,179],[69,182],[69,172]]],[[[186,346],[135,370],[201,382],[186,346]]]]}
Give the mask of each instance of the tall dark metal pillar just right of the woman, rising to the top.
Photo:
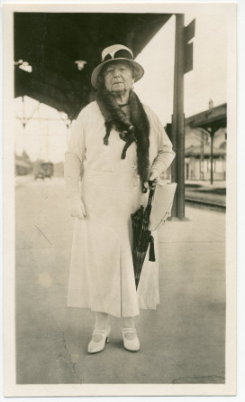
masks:
{"type": "Polygon", "coordinates": [[[174,113],[172,116],[172,142],[176,158],[172,164],[172,179],[173,182],[177,182],[177,193],[172,208],[172,219],[178,220],[185,220],[184,28],[184,14],[176,14],[174,113]]]}

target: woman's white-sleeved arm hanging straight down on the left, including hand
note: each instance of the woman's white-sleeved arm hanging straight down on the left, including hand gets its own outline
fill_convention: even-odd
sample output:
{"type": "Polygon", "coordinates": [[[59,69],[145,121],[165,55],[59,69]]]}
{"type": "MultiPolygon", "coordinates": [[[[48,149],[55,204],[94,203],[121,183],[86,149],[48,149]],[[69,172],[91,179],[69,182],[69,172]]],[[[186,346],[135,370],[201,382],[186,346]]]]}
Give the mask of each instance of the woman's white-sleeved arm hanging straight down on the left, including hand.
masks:
{"type": "Polygon", "coordinates": [[[72,126],[68,140],[68,149],[65,154],[64,178],[68,197],[70,215],[80,219],[85,218],[86,210],[79,195],[79,182],[83,172],[85,159],[85,133],[82,112],[72,126]]]}

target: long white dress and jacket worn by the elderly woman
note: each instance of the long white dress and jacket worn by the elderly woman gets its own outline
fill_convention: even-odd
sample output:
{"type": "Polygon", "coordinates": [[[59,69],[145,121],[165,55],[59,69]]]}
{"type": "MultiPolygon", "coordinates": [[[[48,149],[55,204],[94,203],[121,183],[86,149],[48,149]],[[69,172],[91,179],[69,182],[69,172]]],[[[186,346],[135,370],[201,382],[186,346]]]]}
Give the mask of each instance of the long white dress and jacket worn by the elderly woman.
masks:
{"type": "MultiPolygon", "coordinates": [[[[162,173],[175,153],[159,118],[149,107],[143,107],[150,121],[151,169],[162,173]]],[[[136,144],[130,145],[122,160],[125,142],[118,132],[112,129],[109,145],[104,145],[104,135],[104,117],[97,103],[92,102],[77,117],[66,153],[68,197],[79,187],[86,207],[86,218],[75,221],[68,306],[133,317],[139,315],[139,308],[155,309],[159,304],[157,234],[156,262],[149,262],[146,256],[136,292],[131,214],[147,201],[148,195],[141,192],[136,144]]]]}

